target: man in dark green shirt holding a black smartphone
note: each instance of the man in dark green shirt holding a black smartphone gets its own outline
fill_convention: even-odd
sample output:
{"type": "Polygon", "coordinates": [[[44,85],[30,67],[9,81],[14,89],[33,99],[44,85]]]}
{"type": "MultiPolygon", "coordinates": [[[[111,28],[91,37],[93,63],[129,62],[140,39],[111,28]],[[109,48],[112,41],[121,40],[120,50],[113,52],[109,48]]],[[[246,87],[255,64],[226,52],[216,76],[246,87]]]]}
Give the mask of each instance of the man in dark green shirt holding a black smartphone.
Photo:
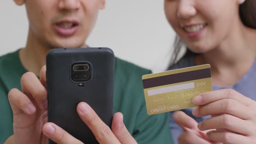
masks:
{"type": "MultiPolygon", "coordinates": [[[[11,135],[7,142],[46,143],[48,137],[57,143],[80,143],[57,125],[46,123],[43,65],[50,49],[86,47],[84,41],[105,1],[14,1],[26,5],[30,25],[26,47],[0,57],[0,143],[11,135]]],[[[167,113],[148,116],[146,112],[141,76],[149,73],[149,70],[115,58],[114,112],[120,111],[123,115],[115,113],[112,130],[89,105],[84,102],[78,105],[79,116],[100,143],[171,142],[167,113]]]]}

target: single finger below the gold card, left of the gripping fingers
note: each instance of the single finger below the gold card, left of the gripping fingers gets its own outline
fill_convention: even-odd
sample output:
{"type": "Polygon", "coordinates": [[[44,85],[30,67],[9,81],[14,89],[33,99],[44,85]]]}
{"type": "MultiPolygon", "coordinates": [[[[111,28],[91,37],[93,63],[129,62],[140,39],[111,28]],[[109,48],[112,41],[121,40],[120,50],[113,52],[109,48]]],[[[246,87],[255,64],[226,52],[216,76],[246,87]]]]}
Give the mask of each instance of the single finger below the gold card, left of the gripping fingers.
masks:
{"type": "Polygon", "coordinates": [[[174,112],[173,119],[183,130],[188,130],[188,129],[198,130],[197,122],[193,118],[186,115],[183,111],[174,112]]]}

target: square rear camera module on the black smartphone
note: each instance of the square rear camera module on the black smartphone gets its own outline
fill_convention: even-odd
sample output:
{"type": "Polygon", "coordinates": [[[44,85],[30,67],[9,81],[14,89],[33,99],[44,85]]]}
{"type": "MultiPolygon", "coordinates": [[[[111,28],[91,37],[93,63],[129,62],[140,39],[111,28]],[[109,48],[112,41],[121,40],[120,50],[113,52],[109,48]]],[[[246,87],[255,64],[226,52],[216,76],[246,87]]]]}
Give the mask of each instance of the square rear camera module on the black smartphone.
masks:
{"type": "Polygon", "coordinates": [[[89,63],[75,63],[71,69],[72,80],[77,82],[91,79],[91,65],[89,63]]]}

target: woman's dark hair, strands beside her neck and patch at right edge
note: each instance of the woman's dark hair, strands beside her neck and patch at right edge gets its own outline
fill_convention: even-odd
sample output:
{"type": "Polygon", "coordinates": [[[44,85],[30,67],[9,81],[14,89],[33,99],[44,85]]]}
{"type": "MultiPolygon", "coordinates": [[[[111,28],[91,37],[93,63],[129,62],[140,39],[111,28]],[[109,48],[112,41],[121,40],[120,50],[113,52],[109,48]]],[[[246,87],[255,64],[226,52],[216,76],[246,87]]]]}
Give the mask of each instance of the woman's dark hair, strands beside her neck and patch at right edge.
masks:
{"type": "MultiPolygon", "coordinates": [[[[243,22],[243,25],[256,29],[256,0],[246,0],[243,4],[239,7],[239,15],[240,19],[243,22]]],[[[173,53],[171,56],[170,65],[174,65],[179,61],[179,55],[181,55],[182,47],[185,46],[181,38],[176,35],[176,38],[173,43],[173,53]]],[[[183,58],[196,55],[196,53],[190,51],[189,49],[186,50],[183,58]]]]}

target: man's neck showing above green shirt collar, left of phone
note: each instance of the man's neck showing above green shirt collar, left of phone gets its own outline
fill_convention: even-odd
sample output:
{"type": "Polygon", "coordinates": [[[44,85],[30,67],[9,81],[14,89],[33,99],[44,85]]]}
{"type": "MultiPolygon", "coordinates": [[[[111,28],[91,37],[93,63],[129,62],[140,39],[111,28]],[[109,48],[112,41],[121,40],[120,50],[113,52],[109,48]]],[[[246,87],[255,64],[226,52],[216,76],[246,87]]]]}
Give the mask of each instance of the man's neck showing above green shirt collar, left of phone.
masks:
{"type": "MultiPolygon", "coordinates": [[[[83,47],[86,47],[84,44],[83,47]]],[[[52,48],[40,43],[31,31],[28,32],[26,47],[19,52],[22,65],[26,70],[39,76],[40,69],[45,65],[46,54],[52,48]]]]}

